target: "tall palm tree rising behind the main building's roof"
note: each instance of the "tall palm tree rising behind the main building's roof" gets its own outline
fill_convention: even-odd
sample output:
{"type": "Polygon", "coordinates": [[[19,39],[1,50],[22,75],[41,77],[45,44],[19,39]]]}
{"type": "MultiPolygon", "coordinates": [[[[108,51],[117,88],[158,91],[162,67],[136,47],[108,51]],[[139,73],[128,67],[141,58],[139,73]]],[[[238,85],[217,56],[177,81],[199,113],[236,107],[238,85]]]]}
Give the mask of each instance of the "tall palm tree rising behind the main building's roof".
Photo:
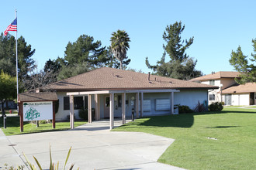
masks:
{"type": "Polygon", "coordinates": [[[112,32],[111,49],[113,55],[120,62],[120,69],[123,70],[123,59],[126,59],[126,51],[130,48],[129,42],[130,38],[127,32],[117,30],[117,32],[112,32]]]}

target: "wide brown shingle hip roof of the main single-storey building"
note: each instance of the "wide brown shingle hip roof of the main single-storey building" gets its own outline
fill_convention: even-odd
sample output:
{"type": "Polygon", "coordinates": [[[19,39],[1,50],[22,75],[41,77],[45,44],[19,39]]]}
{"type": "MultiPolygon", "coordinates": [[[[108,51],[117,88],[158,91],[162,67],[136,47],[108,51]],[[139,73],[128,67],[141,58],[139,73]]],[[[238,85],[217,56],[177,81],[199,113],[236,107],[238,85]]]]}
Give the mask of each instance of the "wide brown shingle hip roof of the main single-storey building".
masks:
{"type": "Polygon", "coordinates": [[[130,70],[117,70],[102,67],[78,76],[50,84],[50,89],[57,91],[88,91],[88,90],[131,90],[131,89],[182,89],[205,88],[216,89],[202,83],[176,80],[163,76],[137,73],[130,70]]]}

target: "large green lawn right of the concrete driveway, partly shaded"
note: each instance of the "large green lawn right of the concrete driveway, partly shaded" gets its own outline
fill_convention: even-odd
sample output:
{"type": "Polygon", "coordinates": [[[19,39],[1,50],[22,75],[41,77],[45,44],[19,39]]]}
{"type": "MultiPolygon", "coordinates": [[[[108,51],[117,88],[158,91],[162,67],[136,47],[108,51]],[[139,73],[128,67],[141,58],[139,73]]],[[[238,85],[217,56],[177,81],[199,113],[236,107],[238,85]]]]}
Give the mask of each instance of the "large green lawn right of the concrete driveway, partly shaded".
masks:
{"type": "Polygon", "coordinates": [[[147,117],[113,131],[174,138],[158,159],[165,164],[187,169],[256,169],[256,110],[225,108],[216,113],[147,117]]]}

